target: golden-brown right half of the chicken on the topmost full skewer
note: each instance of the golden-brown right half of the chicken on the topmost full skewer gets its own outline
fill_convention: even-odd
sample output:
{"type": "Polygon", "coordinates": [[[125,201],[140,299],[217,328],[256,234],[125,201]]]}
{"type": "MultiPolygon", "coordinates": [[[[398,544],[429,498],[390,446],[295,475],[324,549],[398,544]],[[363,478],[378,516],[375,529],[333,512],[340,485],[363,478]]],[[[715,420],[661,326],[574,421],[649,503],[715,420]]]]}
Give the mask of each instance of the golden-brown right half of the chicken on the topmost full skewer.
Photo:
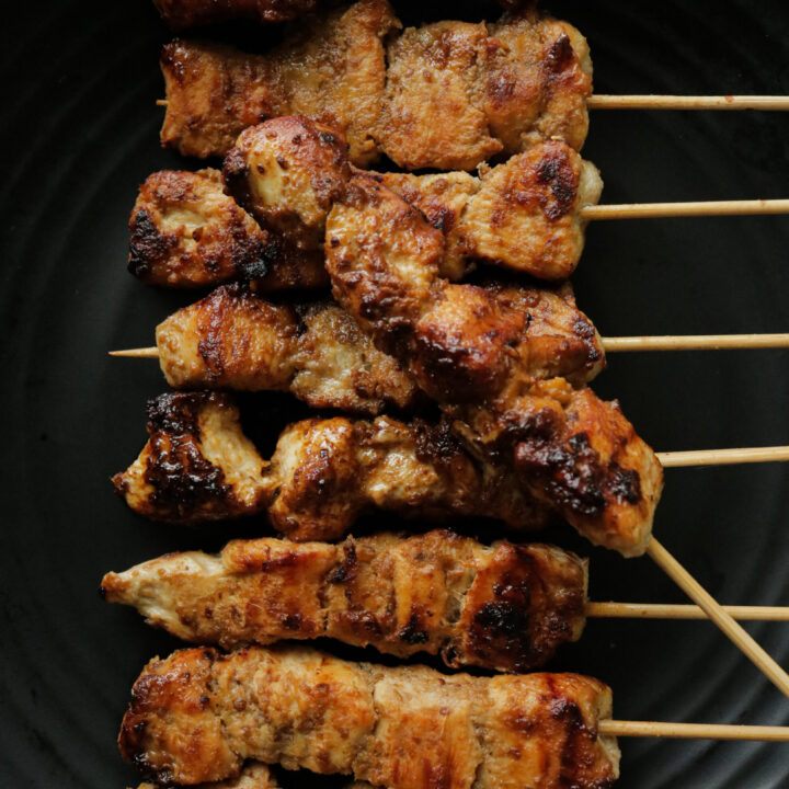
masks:
{"type": "Polygon", "coordinates": [[[592,61],[567,22],[530,11],[409,27],[387,62],[376,140],[407,170],[471,170],[540,140],[586,139],[592,61]]]}

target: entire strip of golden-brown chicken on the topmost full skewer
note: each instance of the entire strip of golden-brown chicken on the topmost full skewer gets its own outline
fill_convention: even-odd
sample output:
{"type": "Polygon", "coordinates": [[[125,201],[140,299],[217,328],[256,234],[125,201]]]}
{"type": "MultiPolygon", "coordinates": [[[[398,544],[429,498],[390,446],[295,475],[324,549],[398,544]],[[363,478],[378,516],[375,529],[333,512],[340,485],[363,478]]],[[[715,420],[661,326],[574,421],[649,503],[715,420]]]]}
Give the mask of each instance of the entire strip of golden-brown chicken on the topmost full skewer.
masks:
{"type": "Polygon", "coordinates": [[[362,0],[308,16],[267,55],[175,41],[161,59],[162,144],[222,156],[245,127],[301,113],[343,130],[358,167],[385,153],[410,170],[471,170],[540,140],[583,145],[592,64],[568,23],[523,11],[399,27],[385,0],[362,0]]]}

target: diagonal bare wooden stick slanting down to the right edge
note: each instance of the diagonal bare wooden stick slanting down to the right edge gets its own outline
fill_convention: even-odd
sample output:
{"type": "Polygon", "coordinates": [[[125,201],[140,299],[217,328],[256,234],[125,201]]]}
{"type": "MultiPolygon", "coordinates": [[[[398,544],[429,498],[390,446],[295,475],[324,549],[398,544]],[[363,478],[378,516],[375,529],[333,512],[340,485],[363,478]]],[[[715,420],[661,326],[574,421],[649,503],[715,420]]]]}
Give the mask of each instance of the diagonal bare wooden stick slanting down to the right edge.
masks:
{"type": "Polygon", "coordinates": [[[734,642],[743,654],[787,697],[789,697],[789,674],[770,658],[762,647],[734,621],[730,614],[707,592],[696,579],[654,538],[647,547],[647,553],[671,578],[679,588],[696,603],[707,616],[734,642]]]}

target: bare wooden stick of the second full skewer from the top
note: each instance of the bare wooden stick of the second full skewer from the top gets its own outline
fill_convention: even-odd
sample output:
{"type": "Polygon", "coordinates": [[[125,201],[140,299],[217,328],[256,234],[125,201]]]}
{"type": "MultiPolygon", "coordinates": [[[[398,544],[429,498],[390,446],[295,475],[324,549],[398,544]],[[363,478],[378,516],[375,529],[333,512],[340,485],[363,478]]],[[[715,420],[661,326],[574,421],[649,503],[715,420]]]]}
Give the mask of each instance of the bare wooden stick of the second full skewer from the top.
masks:
{"type": "Polygon", "coordinates": [[[621,203],[586,206],[584,219],[658,219],[665,217],[755,216],[789,214],[789,199],[698,201],[693,203],[621,203]]]}

